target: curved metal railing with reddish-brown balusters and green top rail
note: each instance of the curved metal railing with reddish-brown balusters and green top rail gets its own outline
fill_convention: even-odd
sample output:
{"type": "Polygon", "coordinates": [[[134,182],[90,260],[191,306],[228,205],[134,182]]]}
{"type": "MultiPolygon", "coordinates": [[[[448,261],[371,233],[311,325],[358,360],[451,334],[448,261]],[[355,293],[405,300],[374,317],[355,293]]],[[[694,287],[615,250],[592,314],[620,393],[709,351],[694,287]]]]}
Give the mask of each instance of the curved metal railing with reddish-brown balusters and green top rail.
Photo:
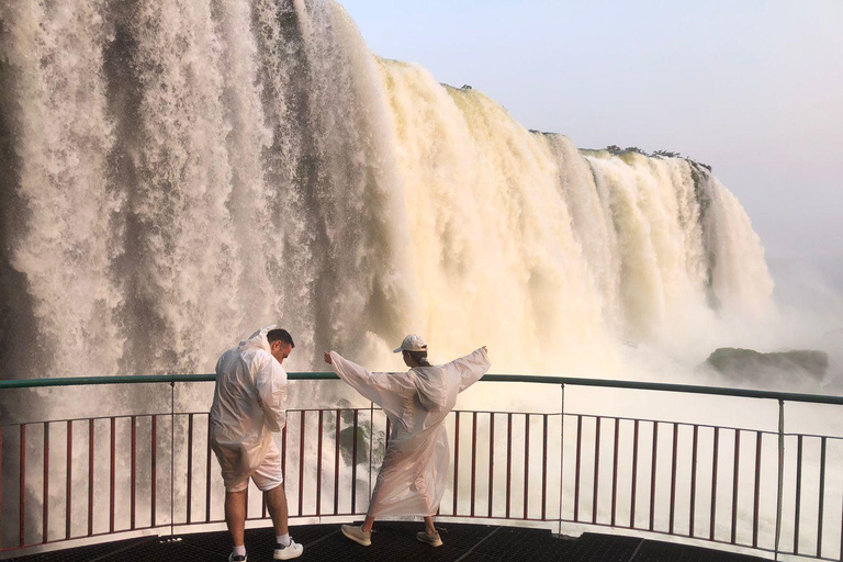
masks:
{"type": "MultiPolygon", "coordinates": [[[[291,373],[291,380],[335,380],[291,373]]],[[[0,381],[11,389],[169,384],[169,412],[0,425],[0,553],[78,540],[184,532],[223,522],[223,486],[206,412],[177,412],[177,383],[213,375],[0,381]],[[15,459],[16,456],[16,459],[15,459]],[[126,535],[128,533],[128,535],[126,535]]],[[[439,517],[610,527],[758,552],[843,560],[840,436],[785,431],[785,404],[843,398],[541,375],[481,384],[559,389],[558,412],[459,411],[447,425],[451,474],[439,517]],[[778,429],[566,409],[569,387],[774,400],[778,429]]],[[[280,436],[293,520],[366,513],[390,420],[369,407],[290,409],[280,436]]],[[[267,519],[252,497],[250,521],[267,519]]]]}

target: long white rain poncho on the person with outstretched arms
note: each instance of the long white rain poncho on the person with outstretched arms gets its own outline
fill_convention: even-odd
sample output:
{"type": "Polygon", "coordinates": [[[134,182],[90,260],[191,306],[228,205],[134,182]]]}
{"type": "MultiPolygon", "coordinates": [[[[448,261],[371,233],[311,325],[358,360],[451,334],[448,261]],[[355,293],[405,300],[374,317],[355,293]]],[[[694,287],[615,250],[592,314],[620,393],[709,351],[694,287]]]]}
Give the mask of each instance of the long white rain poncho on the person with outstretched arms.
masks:
{"type": "Polygon", "coordinates": [[[439,367],[405,373],[371,373],[336,351],[334,372],[378,404],[392,423],[390,445],[369,503],[370,516],[432,516],[445,493],[450,464],[445,418],[457,395],[492,363],[481,348],[439,367]]]}

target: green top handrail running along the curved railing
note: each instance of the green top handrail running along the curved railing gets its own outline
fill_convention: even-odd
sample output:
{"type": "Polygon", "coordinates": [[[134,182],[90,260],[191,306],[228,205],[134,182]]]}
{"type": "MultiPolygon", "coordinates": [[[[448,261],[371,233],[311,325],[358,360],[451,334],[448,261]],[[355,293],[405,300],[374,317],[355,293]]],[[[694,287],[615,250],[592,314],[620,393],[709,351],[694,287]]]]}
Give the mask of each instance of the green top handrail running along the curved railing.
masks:
{"type": "MultiPolygon", "coordinates": [[[[292,372],[288,378],[293,381],[339,380],[330,372],[292,372]]],[[[0,391],[7,389],[40,389],[46,386],[78,386],[90,384],[145,384],[177,382],[213,382],[213,374],[151,374],[120,376],[71,376],[56,379],[18,379],[0,381],[0,391]]],[[[608,379],[578,379],[575,376],[551,376],[543,374],[486,374],[486,382],[517,382],[538,384],[564,384],[569,386],[595,386],[621,390],[682,392],[687,394],[708,394],[742,398],[765,398],[785,402],[806,402],[812,404],[843,405],[843,396],[823,396],[793,392],[757,391],[751,389],[729,389],[723,386],[695,386],[692,384],[671,384],[659,382],[615,381],[608,379]]]]}

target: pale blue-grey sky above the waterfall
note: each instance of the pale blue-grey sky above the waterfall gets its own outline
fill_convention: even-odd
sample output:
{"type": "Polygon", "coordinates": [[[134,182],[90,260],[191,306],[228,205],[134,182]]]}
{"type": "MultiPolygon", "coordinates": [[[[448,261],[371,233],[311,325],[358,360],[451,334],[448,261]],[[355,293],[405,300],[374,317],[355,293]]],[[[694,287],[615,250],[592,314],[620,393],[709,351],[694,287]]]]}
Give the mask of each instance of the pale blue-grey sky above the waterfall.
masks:
{"type": "Polygon", "coordinates": [[[843,268],[843,0],[339,1],[375,54],[581,148],[708,164],[768,259],[843,268]]]}

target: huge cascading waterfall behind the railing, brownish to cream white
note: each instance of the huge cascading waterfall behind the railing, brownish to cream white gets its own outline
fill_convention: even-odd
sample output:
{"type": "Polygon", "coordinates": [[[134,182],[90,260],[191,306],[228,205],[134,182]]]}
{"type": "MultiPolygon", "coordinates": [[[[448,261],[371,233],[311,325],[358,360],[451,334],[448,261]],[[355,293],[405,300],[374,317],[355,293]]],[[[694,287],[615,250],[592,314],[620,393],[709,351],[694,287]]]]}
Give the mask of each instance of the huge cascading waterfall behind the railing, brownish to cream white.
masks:
{"type": "Polygon", "coordinates": [[[597,374],[771,305],[708,170],[528,132],[329,0],[0,5],[13,376],[209,372],[271,322],[293,370],[387,367],[418,331],[435,359],[597,374]]]}

